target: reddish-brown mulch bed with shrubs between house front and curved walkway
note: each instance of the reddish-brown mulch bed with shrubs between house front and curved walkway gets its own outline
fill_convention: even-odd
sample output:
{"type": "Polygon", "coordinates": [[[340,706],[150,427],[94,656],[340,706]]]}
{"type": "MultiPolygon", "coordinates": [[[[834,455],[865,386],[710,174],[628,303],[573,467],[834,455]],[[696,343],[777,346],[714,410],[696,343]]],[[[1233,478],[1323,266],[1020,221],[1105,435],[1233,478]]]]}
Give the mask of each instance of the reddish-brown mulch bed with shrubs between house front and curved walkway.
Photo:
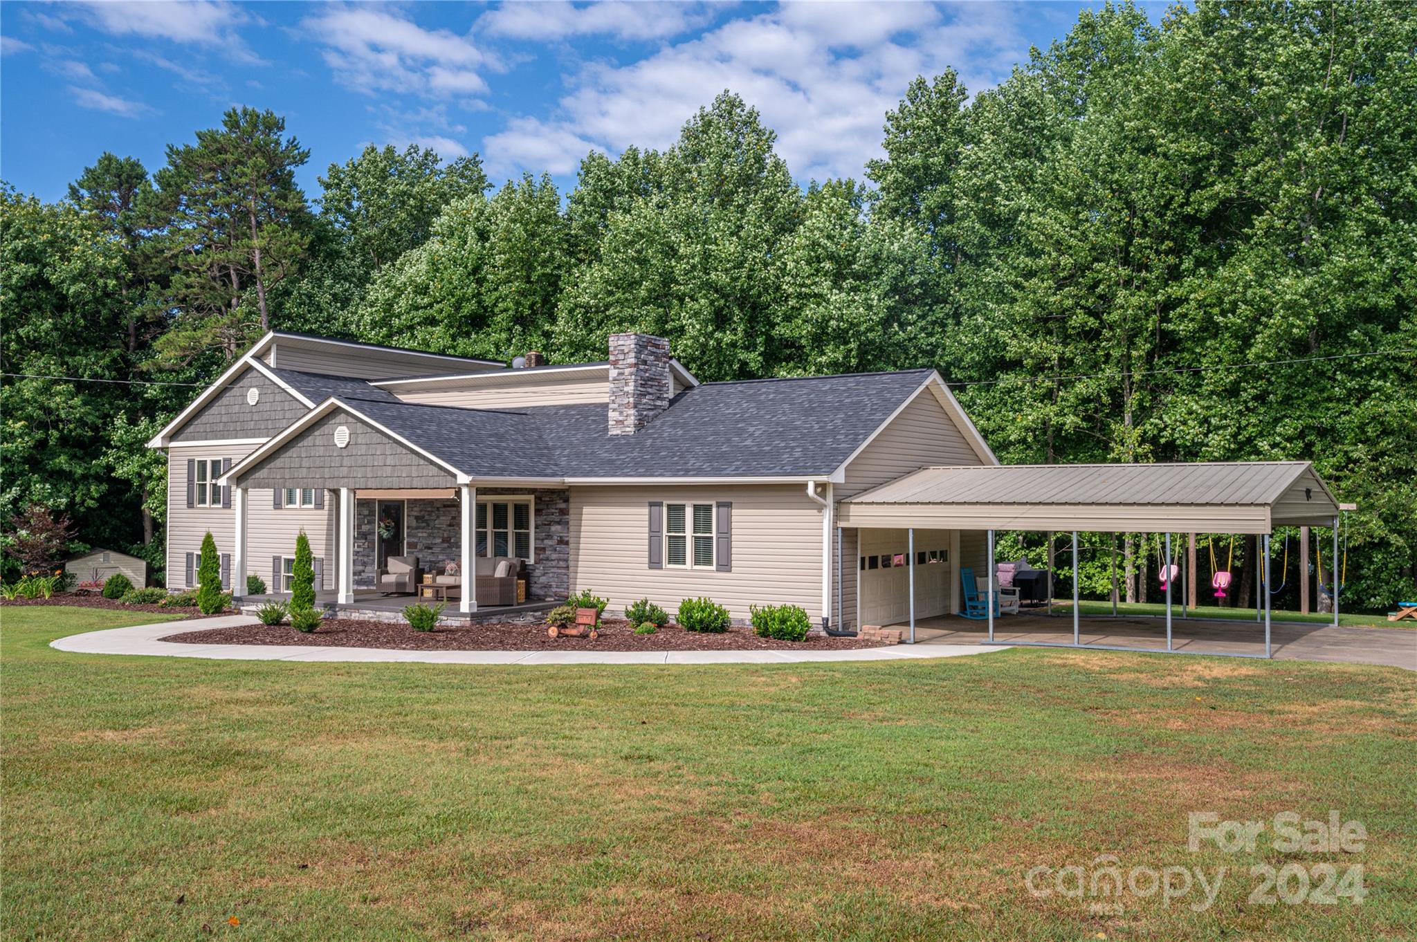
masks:
{"type": "Polygon", "coordinates": [[[404,622],[326,619],[302,635],[289,625],[241,625],[169,635],[164,642],[188,645],[324,645],[339,647],[383,647],[398,650],[840,650],[879,647],[879,642],[856,637],[809,636],[805,642],[758,637],[750,628],[731,628],[723,635],[699,635],[677,625],[653,635],[636,635],[623,619],[601,622],[599,637],[550,637],[546,625],[486,622],[466,628],[439,626],[415,632],[404,622]]]}

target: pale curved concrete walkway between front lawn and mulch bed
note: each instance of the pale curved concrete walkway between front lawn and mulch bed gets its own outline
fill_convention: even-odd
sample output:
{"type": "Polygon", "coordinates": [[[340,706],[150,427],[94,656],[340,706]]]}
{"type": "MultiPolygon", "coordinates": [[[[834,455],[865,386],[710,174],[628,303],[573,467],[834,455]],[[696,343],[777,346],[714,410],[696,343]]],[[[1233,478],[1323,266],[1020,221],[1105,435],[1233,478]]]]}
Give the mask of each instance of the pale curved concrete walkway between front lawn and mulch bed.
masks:
{"type": "Polygon", "coordinates": [[[524,650],[394,650],[384,647],[326,647],[313,645],[177,645],[157,640],[204,628],[255,625],[249,615],[204,618],[160,625],[111,628],[69,635],[51,647],[84,654],[150,654],[162,657],[213,657],[218,660],[293,662],[419,662],[427,664],[802,664],[846,660],[922,660],[983,654],[1002,647],[979,645],[897,645],[856,650],[704,650],[704,652],[524,652],[524,650]]]}

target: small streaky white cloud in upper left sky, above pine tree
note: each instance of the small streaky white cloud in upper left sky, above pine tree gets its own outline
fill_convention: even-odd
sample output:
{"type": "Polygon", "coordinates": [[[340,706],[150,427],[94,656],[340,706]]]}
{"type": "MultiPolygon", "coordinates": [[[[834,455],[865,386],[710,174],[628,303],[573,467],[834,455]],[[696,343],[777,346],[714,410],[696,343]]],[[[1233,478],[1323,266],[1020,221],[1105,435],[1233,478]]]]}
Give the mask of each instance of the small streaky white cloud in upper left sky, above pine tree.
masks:
{"type": "Polygon", "coordinates": [[[496,67],[470,38],[424,30],[380,7],[324,7],[302,27],[324,45],[334,76],[366,93],[480,95],[487,91],[480,69],[496,67]]]}

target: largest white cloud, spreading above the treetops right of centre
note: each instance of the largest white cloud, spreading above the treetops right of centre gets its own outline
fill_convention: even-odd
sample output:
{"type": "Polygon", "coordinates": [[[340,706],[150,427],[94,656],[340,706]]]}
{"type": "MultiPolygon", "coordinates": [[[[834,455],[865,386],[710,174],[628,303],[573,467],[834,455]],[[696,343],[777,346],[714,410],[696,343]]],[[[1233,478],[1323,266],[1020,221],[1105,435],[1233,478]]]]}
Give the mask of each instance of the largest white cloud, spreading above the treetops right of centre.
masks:
{"type": "Polygon", "coordinates": [[[570,78],[555,119],[514,118],[483,150],[490,166],[541,170],[574,167],[592,146],[665,147],[733,89],[778,132],[795,176],[860,178],[915,75],[954,67],[978,91],[1023,58],[1013,17],[993,4],[784,4],[638,62],[588,65],[570,78]]]}

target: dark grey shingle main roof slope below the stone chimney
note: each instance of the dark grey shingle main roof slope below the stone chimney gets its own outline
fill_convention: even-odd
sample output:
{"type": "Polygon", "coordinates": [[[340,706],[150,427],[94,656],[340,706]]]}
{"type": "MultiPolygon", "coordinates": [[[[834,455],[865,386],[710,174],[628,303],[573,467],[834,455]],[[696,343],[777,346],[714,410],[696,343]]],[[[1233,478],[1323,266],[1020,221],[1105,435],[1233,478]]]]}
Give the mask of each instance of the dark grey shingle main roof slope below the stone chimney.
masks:
{"type": "Polygon", "coordinates": [[[928,375],[708,382],[635,435],[609,435],[604,404],[492,411],[337,398],[473,477],[781,477],[836,470],[928,375]]]}

